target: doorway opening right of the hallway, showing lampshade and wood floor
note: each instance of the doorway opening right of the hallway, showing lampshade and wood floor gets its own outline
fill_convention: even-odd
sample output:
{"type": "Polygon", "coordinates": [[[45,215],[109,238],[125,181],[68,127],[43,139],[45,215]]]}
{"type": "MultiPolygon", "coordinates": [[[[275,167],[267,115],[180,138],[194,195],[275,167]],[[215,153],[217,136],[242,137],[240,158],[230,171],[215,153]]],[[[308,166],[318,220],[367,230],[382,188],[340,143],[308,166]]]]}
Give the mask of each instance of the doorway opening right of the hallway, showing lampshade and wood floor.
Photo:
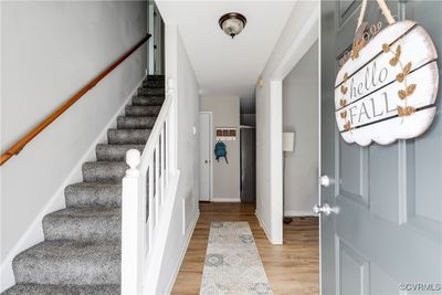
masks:
{"type": "MultiPolygon", "coordinates": [[[[295,271],[303,285],[319,293],[319,219],[313,212],[319,194],[318,41],[282,81],[283,245],[299,246],[295,271]],[[299,263],[302,261],[302,263],[299,263]]],[[[307,294],[305,291],[304,293],[307,294]]]]}

